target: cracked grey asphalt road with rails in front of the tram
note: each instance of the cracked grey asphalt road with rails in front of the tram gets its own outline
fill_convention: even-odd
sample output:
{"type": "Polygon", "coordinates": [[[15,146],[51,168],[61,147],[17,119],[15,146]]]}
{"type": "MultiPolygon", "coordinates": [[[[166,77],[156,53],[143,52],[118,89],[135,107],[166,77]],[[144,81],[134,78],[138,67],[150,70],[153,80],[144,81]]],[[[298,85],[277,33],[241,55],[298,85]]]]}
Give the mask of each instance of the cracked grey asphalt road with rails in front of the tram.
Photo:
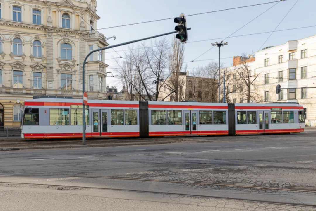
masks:
{"type": "Polygon", "coordinates": [[[316,210],[262,203],[316,206],[315,135],[311,130],[186,137],[165,145],[1,151],[0,198],[6,200],[0,210],[18,210],[15,200],[28,210],[35,199],[33,210],[44,210],[41,200],[50,199],[60,203],[46,210],[97,210],[114,202],[118,207],[108,210],[316,210]]]}

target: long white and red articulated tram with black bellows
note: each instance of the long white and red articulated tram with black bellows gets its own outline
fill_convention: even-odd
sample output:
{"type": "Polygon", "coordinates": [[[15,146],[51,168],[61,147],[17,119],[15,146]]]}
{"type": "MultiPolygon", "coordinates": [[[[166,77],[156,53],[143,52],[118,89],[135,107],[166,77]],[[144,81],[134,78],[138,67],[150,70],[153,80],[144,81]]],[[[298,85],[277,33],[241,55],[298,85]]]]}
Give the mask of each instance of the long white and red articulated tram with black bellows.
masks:
{"type": "MultiPolygon", "coordinates": [[[[24,101],[21,137],[82,137],[82,100],[24,101]]],[[[200,103],[88,100],[87,137],[300,133],[304,109],[288,103],[200,103]]]]}

